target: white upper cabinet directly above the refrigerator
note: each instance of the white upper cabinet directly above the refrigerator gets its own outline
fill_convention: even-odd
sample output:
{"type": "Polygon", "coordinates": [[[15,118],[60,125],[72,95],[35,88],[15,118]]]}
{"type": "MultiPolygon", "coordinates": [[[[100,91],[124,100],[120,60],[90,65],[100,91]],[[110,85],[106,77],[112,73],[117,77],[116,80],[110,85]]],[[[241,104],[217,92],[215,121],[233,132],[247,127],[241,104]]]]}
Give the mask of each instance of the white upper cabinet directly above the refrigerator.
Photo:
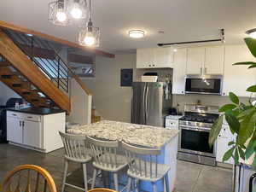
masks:
{"type": "Polygon", "coordinates": [[[137,49],[137,68],[172,67],[172,48],[137,49]]]}

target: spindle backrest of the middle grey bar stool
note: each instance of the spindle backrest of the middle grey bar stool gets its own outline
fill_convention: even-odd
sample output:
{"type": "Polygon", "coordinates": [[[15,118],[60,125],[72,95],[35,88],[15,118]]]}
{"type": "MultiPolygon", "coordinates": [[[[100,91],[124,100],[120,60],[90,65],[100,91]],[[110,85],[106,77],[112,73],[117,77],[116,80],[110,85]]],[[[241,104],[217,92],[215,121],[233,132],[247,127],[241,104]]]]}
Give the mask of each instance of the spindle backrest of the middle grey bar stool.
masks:
{"type": "Polygon", "coordinates": [[[118,166],[118,141],[104,141],[92,137],[87,137],[87,139],[97,164],[107,168],[116,168],[118,166]]]}

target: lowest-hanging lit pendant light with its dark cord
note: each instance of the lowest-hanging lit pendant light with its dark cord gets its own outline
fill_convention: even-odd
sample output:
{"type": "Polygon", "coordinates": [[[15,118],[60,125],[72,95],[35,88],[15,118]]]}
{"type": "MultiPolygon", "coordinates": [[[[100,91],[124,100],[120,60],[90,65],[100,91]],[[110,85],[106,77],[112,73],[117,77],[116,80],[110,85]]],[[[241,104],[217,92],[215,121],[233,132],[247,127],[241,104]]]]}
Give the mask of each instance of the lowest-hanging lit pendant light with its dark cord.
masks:
{"type": "Polygon", "coordinates": [[[88,47],[98,47],[100,45],[100,29],[95,27],[91,21],[90,0],[89,0],[89,20],[79,32],[79,44],[88,47]]]}

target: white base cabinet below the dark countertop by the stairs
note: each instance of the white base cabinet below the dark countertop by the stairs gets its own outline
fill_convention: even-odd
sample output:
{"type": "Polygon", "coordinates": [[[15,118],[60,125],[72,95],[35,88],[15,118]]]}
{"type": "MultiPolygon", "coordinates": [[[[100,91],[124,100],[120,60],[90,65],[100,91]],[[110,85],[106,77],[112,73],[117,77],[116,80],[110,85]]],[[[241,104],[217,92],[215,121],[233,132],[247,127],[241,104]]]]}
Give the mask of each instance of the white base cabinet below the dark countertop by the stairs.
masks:
{"type": "Polygon", "coordinates": [[[59,131],[65,132],[65,113],[38,115],[7,111],[7,140],[11,144],[49,153],[62,148],[59,131]]]}

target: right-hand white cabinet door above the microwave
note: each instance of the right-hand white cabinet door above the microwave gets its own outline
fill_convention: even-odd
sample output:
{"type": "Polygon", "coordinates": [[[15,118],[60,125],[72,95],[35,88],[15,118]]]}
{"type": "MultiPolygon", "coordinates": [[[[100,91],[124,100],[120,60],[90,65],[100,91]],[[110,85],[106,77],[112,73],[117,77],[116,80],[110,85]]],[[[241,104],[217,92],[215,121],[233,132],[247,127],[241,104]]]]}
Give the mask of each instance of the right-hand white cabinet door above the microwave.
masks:
{"type": "Polygon", "coordinates": [[[206,47],[204,74],[224,73],[224,46],[206,47]]]}

